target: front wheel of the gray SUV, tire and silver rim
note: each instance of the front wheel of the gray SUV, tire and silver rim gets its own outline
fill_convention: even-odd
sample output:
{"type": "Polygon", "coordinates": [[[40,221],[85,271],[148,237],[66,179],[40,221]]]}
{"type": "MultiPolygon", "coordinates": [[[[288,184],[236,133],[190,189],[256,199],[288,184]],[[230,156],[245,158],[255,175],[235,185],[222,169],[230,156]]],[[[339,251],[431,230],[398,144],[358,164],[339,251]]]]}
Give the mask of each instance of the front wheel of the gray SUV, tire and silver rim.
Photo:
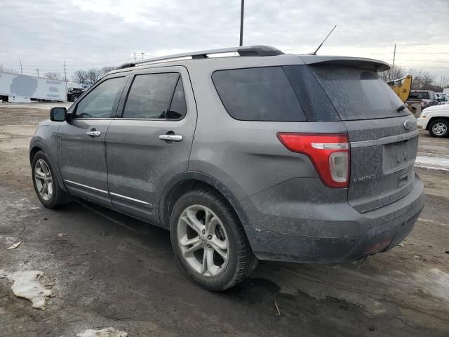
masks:
{"type": "Polygon", "coordinates": [[[54,209],[70,201],[69,194],[60,187],[55,169],[45,152],[34,154],[31,167],[34,191],[43,206],[54,209]]]}

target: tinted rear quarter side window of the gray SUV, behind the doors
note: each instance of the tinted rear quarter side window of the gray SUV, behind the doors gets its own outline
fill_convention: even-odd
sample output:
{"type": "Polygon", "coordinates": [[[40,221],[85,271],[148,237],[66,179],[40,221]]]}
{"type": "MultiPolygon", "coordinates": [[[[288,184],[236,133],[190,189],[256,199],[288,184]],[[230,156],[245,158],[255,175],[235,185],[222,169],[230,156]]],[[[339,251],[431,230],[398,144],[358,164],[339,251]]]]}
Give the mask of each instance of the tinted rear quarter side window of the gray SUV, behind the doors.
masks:
{"type": "Polygon", "coordinates": [[[212,74],[227,112],[243,121],[306,121],[282,67],[217,70],[212,74]]]}

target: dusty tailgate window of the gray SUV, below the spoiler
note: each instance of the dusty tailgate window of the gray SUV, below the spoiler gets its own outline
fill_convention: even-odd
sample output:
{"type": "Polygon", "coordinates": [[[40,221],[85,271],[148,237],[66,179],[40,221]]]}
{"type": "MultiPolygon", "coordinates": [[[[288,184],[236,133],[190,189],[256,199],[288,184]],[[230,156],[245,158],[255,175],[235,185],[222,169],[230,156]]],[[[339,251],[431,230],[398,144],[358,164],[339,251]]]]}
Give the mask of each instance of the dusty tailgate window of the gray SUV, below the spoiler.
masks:
{"type": "Polygon", "coordinates": [[[337,65],[309,67],[342,120],[377,119],[409,114],[403,103],[375,72],[337,65]]]}

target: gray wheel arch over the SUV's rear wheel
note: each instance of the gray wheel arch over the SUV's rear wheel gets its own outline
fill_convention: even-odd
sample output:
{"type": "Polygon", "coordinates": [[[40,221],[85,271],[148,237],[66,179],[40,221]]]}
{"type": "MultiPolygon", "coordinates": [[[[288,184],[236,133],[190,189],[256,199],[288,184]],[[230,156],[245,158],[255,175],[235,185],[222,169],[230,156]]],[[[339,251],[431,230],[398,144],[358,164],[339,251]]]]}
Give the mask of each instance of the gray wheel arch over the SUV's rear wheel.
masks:
{"type": "Polygon", "coordinates": [[[170,227],[170,213],[177,198],[185,192],[192,190],[192,188],[197,187],[215,190],[215,192],[224,197],[232,206],[232,209],[236,212],[243,228],[252,228],[248,215],[244,211],[239,200],[225,186],[225,184],[213,178],[213,176],[209,176],[208,174],[199,171],[180,173],[166,185],[159,202],[159,218],[162,227],[170,227]]]}

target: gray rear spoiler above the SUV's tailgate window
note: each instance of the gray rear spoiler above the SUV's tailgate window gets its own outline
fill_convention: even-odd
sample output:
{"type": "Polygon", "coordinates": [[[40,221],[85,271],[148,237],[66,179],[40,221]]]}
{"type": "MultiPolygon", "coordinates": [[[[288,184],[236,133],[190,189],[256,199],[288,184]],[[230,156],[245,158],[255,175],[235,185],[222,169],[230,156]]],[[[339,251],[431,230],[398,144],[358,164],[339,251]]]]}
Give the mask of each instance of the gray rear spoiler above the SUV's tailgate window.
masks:
{"type": "Polygon", "coordinates": [[[371,58],[350,58],[347,56],[300,55],[306,65],[343,65],[373,72],[389,70],[388,63],[371,58]]]}

